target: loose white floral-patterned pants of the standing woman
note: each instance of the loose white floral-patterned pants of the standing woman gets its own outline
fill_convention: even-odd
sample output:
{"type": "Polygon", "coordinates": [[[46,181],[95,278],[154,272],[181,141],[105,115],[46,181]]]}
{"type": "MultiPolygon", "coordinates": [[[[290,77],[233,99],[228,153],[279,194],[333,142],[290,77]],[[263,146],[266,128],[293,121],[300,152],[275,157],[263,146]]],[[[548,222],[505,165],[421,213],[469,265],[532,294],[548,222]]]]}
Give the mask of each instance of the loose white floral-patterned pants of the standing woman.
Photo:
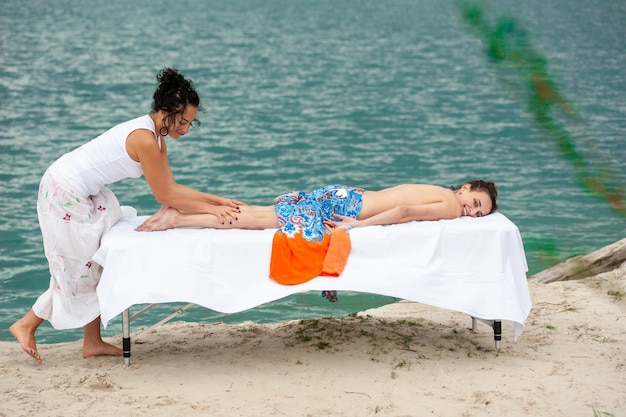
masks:
{"type": "Polygon", "coordinates": [[[50,288],[33,311],[55,329],[83,327],[100,315],[96,287],[102,267],[92,261],[102,235],[121,217],[111,190],[80,195],[46,172],[39,186],[37,214],[50,266],[50,288]]]}

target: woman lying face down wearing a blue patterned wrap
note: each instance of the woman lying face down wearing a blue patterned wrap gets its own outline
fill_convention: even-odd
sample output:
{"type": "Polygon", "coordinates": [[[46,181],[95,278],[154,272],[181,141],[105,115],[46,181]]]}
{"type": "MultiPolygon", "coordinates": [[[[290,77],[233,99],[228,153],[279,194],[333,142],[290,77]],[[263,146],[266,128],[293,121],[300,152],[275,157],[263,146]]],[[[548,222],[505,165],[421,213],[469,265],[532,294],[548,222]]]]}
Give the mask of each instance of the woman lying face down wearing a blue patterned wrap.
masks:
{"type": "Polygon", "coordinates": [[[276,229],[293,212],[284,210],[304,199],[319,205],[329,228],[363,227],[405,223],[414,220],[442,220],[461,216],[481,217],[497,209],[493,182],[469,181],[458,188],[427,184],[403,184],[380,191],[365,191],[344,185],[329,185],[311,193],[294,191],[275,199],[271,206],[241,206],[228,223],[212,214],[183,213],[163,206],[137,227],[138,231],[176,227],[215,229],[276,229]]]}

